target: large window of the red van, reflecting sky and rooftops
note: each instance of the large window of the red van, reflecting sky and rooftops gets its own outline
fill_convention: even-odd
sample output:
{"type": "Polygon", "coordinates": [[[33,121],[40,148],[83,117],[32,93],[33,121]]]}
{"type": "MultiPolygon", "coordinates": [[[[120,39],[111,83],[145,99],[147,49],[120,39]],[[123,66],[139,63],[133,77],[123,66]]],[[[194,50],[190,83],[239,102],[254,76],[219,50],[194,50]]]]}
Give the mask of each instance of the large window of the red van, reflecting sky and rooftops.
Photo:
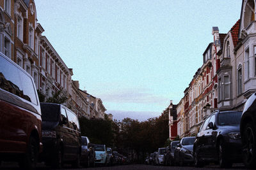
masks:
{"type": "Polygon", "coordinates": [[[0,57],[0,88],[38,104],[33,80],[3,57],[0,57]]]}

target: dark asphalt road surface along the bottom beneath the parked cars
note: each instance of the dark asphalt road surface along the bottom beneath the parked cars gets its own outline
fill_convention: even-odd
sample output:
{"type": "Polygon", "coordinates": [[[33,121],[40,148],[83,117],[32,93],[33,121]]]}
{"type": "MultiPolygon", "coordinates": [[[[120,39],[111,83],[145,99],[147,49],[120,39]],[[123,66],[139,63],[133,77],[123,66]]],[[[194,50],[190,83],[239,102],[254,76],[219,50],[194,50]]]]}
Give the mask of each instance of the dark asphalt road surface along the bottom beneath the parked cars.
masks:
{"type": "MultiPolygon", "coordinates": [[[[2,166],[0,166],[0,169],[4,169],[4,170],[18,170],[19,166],[17,163],[12,163],[12,162],[3,162],[2,166]]],[[[44,164],[38,164],[38,170],[47,170],[47,169],[51,169],[50,167],[46,167],[44,166],[44,164]]],[[[109,166],[109,167],[101,167],[101,166],[97,166],[97,167],[93,167],[93,168],[79,168],[81,169],[92,169],[92,170],[108,170],[108,169],[114,169],[114,170],[140,170],[140,169],[146,169],[146,170],[151,170],[151,169],[175,169],[175,170],[182,170],[182,169],[188,169],[188,170],[193,170],[193,169],[197,169],[197,170],[202,170],[202,169],[220,169],[219,166],[216,165],[210,165],[210,166],[205,166],[204,168],[196,168],[193,166],[184,166],[184,167],[179,167],[179,166],[151,166],[151,165],[143,165],[143,164],[131,164],[131,165],[124,165],[124,166],[109,166]]],[[[245,169],[243,164],[235,164],[232,168],[230,169],[245,169]]],[[[63,170],[76,170],[68,165],[66,165],[63,170]]]]}

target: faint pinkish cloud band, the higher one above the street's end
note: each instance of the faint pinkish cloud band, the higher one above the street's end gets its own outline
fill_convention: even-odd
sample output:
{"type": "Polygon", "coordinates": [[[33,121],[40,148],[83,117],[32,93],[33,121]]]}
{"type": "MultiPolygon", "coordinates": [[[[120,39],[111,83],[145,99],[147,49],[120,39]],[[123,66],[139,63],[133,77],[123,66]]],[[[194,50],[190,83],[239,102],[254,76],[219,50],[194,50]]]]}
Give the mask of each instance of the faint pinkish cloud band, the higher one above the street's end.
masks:
{"type": "Polygon", "coordinates": [[[100,98],[105,102],[112,103],[154,103],[165,104],[168,98],[151,94],[147,89],[116,89],[108,94],[100,94],[100,98]]]}

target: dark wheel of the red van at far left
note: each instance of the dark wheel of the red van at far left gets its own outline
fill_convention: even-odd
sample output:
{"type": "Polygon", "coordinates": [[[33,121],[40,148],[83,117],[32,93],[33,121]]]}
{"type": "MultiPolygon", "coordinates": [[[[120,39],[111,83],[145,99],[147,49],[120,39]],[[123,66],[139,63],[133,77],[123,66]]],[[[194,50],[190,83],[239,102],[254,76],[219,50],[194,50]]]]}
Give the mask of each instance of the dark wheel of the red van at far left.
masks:
{"type": "Polygon", "coordinates": [[[24,157],[19,162],[22,169],[35,169],[38,159],[38,142],[31,136],[29,138],[28,149],[24,157]]]}

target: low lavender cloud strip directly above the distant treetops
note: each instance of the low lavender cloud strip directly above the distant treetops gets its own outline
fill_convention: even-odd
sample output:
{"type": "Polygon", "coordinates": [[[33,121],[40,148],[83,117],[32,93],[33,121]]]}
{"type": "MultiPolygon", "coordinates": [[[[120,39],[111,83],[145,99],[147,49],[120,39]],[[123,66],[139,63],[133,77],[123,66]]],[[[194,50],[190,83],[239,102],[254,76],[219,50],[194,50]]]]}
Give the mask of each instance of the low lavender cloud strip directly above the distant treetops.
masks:
{"type": "Polygon", "coordinates": [[[140,122],[148,120],[148,118],[159,117],[161,113],[154,111],[118,111],[118,110],[108,110],[107,113],[113,115],[113,119],[122,121],[124,118],[137,119],[140,122]]]}

